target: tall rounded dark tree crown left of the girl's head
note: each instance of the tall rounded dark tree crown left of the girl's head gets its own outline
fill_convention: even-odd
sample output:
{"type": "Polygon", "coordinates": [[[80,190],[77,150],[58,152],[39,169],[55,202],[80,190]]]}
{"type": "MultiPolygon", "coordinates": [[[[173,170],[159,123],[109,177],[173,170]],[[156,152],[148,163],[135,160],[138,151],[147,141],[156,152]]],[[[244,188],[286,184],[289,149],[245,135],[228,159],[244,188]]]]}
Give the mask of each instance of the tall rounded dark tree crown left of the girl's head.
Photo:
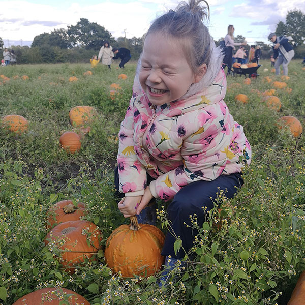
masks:
{"type": "Polygon", "coordinates": [[[110,44],[114,38],[103,26],[88,19],[80,18],[76,25],[68,26],[67,35],[72,46],[83,46],[86,49],[99,49],[105,40],[110,44]]]}

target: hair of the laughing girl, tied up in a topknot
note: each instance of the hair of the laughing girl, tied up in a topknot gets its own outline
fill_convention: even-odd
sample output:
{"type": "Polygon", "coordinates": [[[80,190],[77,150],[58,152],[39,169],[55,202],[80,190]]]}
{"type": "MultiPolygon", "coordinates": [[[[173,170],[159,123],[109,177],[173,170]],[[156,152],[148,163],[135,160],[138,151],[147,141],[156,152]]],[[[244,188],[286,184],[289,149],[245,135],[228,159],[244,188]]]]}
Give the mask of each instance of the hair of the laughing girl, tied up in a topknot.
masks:
{"type": "MultiPolygon", "coordinates": [[[[205,0],[180,2],[176,10],[157,18],[151,24],[145,37],[153,33],[161,33],[164,37],[184,39],[182,45],[186,59],[192,71],[197,74],[202,64],[210,63],[212,38],[203,20],[209,17],[209,6],[205,0]],[[204,2],[206,7],[200,4],[204,2]]],[[[145,41],[145,38],[144,38],[145,41]]]]}

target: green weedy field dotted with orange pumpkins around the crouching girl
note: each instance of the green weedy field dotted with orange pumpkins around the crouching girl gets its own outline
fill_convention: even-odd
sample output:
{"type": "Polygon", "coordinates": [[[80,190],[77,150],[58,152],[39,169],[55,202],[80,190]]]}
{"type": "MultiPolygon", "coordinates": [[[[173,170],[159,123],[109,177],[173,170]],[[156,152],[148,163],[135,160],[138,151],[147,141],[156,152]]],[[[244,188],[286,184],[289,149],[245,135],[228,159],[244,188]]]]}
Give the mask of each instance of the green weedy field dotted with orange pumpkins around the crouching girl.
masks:
{"type": "MultiPolygon", "coordinates": [[[[305,66],[293,60],[286,77],[260,64],[256,78],[227,77],[225,102],[253,151],[245,184],[234,199],[220,192],[202,227],[190,215],[194,247],[161,288],[161,256],[148,260],[115,198],[136,63],[0,67],[0,305],[287,304],[305,270],[305,66]],[[129,237],[115,239],[121,225],[129,237]]],[[[170,222],[168,202],[157,205],[159,245],[170,222]]]]}

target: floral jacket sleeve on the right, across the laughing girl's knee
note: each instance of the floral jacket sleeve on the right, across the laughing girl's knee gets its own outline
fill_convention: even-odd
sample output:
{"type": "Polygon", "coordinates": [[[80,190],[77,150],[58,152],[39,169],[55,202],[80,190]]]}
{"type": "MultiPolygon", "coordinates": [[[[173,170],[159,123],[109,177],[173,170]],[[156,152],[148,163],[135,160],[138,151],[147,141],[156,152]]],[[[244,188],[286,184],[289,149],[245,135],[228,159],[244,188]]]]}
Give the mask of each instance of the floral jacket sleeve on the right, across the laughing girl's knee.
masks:
{"type": "Polygon", "coordinates": [[[194,130],[182,143],[184,165],[150,182],[152,194],[169,200],[191,182],[212,181],[220,176],[228,159],[238,160],[236,155],[239,152],[232,148],[231,143],[233,129],[234,120],[229,116],[228,121],[221,117],[211,118],[203,127],[194,130]]]}

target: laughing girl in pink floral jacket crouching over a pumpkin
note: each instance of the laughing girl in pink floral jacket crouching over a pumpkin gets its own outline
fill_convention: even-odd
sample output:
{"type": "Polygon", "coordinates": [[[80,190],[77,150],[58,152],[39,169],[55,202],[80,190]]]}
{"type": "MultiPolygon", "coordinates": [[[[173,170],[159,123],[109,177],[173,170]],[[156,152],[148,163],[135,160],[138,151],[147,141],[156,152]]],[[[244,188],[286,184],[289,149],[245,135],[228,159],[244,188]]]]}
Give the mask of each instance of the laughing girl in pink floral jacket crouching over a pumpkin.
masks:
{"type": "Polygon", "coordinates": [[[173,235],[190,250],[198,233],[187,227],[190,215],[201,226],[220,190],[232,198],[243,184],[239,157],[251,159],[243,128],[223,100],[223,55],[202,23],[200,2],[181,4],[150,26],[119,132],[115,178],[125,198],[118,208],[127,218],[153,198],[170,201],[173,232],[162,250],[170,266],[185,255],[175,254],[173,235]]]}

